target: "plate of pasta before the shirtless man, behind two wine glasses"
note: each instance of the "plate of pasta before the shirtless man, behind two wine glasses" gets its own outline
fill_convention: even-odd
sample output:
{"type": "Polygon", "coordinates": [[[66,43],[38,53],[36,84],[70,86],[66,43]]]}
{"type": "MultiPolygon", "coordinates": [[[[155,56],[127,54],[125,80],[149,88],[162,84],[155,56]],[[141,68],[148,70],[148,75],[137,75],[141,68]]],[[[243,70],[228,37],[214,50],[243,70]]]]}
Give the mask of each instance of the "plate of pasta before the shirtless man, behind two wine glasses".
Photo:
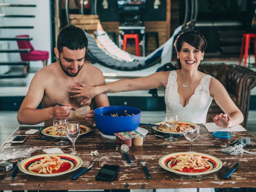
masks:
{"type": "MultiPolygon", "coordinates": [[[[79,136],[90,132],[90,130],[91,130],[90,127],[87,127],[87,126],[84,126],[84,125],[80,125],[79,136]]],[[[50,126],[50,127],[46,127],[44,129],[42,129],[42,134],[44,134],[46,136],[51,136],[51,137],[60,137],[60,132],[58,132],[54,128],[54,126],[50,126]]],[[[67,137],[65,130],[62,132],[62,134],[63,134],[63,137],[67,137]]]]}

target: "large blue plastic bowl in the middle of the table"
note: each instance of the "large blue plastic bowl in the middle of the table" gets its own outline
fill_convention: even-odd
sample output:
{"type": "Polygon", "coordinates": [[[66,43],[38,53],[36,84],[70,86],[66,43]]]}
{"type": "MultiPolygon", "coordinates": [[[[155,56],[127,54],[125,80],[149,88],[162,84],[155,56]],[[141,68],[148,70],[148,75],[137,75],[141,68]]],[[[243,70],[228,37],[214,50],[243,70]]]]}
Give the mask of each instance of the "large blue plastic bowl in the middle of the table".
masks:
{"type": "Polygon", "coordinates": [[[140,110],[127,106],[101,107],[94,110],[94,118],[96,127],[100,132],[114,135],[116,132],[136,130],[140,124],[140,110]],[[125,110],[131,116],[126,116],[125,110]],[[111,114],[116,113],[118,117],[111,116],[111,114]]]}

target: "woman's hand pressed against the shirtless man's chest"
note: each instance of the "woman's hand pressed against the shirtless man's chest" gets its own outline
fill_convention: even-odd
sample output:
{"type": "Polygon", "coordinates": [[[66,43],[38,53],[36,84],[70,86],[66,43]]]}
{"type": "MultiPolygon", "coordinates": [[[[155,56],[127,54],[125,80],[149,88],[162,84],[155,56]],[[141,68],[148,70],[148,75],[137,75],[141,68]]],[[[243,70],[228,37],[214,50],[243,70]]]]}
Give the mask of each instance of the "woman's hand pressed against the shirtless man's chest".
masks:
{"type": "Polygon", "coordinates": [[[71,98],[85,97],[85,99],[81,102],[82,104],[85,101],[92,99],[96,95],[94,94],[94,87],[88,86],[78,81],[76,83],[80,86],[70,86],[72,90],[68,90],[70,93],[75,93],[75,95],[70,96],[71,98]]]}

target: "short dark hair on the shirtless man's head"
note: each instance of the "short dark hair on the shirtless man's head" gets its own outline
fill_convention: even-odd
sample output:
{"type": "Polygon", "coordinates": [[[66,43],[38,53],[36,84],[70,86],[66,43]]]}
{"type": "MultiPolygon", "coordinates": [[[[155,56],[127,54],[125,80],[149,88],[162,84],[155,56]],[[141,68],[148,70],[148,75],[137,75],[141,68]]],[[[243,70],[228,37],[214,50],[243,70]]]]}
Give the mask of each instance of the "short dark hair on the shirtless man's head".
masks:
{"type": "Polygon", "coordinates": [[[67,47],[70,50],[78,50],[86,48],[88,46],[88,38],[84,31],[74,25],[67,25],[62,30],[57,38],[57,49],[61,53],[63,47],[67,47]]]}

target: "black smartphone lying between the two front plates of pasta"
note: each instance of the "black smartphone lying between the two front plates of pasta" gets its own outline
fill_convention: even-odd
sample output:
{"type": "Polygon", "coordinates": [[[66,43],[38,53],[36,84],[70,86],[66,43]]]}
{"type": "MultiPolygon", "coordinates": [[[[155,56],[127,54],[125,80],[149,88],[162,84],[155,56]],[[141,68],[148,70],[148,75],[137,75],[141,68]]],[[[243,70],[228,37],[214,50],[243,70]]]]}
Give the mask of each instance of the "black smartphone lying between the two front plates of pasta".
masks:
{"type": "Polygon", "coordinates": [[[114,180],[118,171],[118,165],[104,165],[96,175],[95,179],[102,181],[112,181],[114,180]]]}

